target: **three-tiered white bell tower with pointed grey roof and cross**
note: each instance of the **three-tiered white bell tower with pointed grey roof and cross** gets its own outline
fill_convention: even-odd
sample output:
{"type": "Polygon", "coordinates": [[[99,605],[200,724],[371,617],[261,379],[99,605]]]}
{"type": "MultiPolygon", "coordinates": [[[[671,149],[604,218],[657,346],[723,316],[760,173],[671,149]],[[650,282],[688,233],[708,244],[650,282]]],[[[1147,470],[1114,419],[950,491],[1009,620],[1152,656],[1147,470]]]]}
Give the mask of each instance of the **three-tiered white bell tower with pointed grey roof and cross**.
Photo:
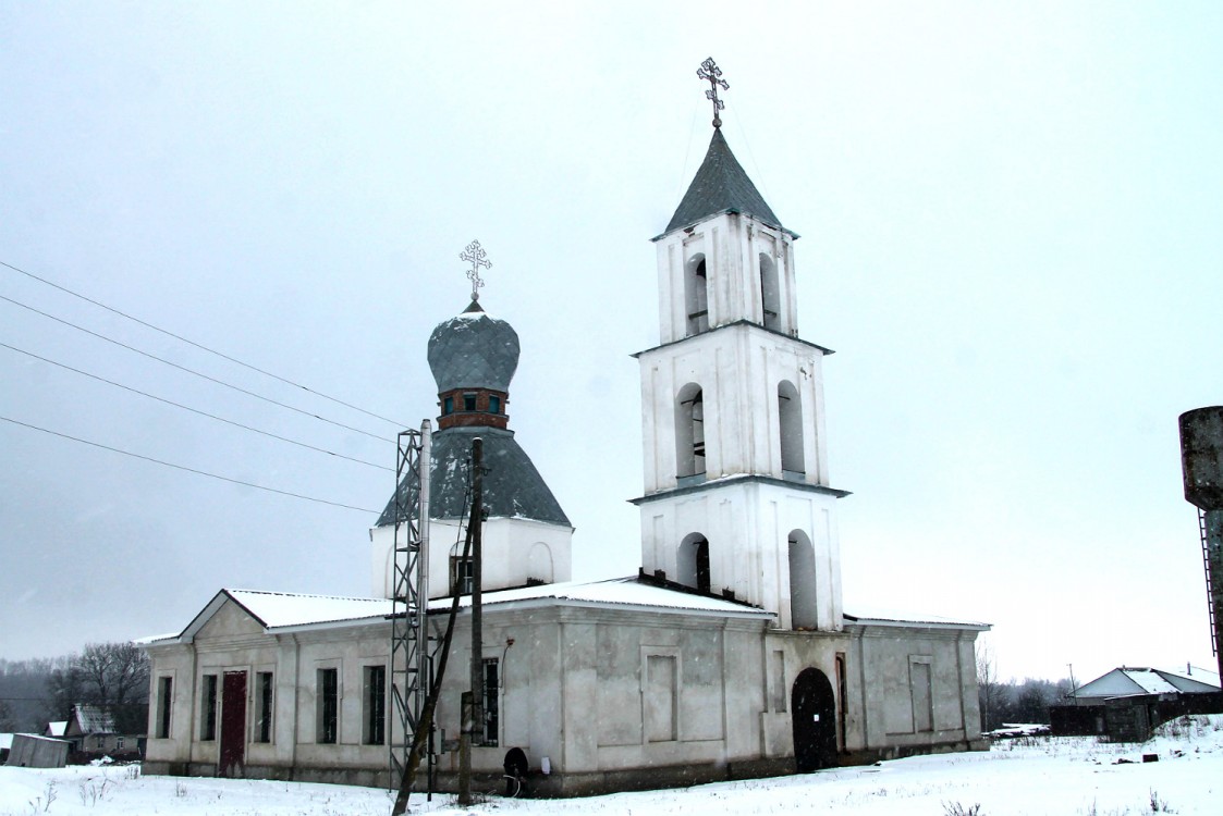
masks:
{"type": "Polygon", "coordinates": [[[823,358],[799,337],[794,241],[714,131],[653,241],[660,344],[641,366],[642,568],[778,614],[841,628],[837,500],[828,479],[823,358]]]}

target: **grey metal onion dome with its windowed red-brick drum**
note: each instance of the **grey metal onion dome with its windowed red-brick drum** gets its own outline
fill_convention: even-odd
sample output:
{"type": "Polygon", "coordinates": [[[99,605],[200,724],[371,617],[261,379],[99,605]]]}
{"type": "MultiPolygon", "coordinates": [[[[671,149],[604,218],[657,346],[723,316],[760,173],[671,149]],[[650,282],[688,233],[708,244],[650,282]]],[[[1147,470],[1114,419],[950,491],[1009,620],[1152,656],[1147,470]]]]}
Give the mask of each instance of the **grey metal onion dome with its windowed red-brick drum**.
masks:
{"type": "Polygon", "coordinates": [[[476,301],[429,335],[429,368],[438,384],[438,428],[505,428],[510,380],[519,368],[519,335],[476,301]]]}

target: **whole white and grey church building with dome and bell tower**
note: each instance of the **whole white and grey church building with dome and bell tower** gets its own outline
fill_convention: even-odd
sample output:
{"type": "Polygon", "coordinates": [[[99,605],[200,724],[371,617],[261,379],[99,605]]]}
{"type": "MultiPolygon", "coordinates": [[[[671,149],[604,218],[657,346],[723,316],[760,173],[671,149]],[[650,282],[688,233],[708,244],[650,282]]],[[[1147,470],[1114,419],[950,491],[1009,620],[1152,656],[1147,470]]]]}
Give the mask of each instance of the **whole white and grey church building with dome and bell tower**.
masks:
{"type": "MultiPolygon", "coordinates": [[[[636,355],[634,577],[570,580],[570,519],[508,426],[512,327],[473,301],[430,336],[434,629],[464,596],[437,713],[448,739],[468,688],[460,553],[475,436],[486,451],[477,773],[499,779],[517,748],[533,792],[582,795],[986,748],[974,644],[988,627],[844,606],[830,352],[799,337],[796,238],[715,127],[654,238],[660,336],[636,355]]],[[[221,590],[181,633],[147,643],[146,772],[388,783],[388,743],[401,739],[388,684],[394,507],[371,533],[372,597],[221,590]]],[[[443,789],[457,768],[456,752],[439,755],[443,789]]]]}

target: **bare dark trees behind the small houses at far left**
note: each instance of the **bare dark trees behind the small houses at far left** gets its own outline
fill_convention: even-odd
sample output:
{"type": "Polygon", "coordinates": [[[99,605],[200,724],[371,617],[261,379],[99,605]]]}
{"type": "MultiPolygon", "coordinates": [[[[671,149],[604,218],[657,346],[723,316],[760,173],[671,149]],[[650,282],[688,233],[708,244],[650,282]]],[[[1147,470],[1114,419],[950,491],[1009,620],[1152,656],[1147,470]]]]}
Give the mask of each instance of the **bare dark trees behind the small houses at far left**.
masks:
{"type": "Polygon", "coordinates": [[[130,643],[88,644],[60,657],[0,658],[0,732],[43,733],[77,704],[99,706],[121,734],[148,722],[149,658],[130,643]]]}

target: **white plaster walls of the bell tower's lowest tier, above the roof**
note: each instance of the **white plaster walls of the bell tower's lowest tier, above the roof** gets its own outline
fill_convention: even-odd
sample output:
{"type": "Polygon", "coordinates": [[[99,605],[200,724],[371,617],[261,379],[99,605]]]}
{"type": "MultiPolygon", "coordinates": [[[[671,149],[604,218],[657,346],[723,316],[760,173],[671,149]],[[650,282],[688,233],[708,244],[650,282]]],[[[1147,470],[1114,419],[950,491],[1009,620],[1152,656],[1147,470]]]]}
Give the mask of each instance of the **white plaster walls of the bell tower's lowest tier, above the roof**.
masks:
{"type": "Polygon", "coordinates": [[[840,544],[837,498],[786,485],[728,480],[695,492],[641,505],[642,567],[680,580],[679,546],[690,533],[709,541],[714,594],[730,589],[741,601],[778,614],[790,628],[789,534],[807,534],[816,557],[817,628],[841,627],[840,544]]]}

